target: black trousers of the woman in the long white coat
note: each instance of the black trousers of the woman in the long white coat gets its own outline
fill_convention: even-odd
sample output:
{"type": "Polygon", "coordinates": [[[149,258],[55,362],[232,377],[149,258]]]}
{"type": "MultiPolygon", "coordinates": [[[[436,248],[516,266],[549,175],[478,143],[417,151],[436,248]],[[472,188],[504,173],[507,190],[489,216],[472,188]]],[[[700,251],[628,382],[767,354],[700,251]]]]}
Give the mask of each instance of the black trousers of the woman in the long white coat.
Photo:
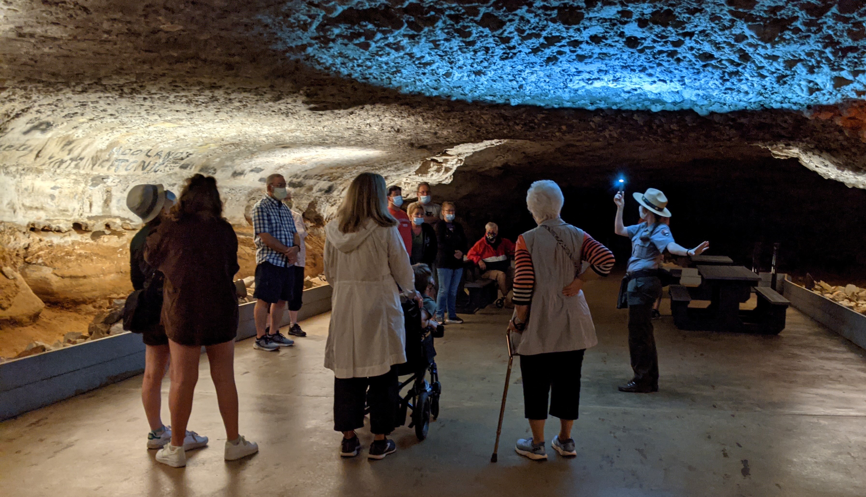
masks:
{"type": "Polygon", "coordinates": [[[365,404],[370,403],[370,431],[374,435],[390,434],[397,424],[399,385],[396,365],[380,376],[333,378],[333,429],[363,428],[365,404]]]}

